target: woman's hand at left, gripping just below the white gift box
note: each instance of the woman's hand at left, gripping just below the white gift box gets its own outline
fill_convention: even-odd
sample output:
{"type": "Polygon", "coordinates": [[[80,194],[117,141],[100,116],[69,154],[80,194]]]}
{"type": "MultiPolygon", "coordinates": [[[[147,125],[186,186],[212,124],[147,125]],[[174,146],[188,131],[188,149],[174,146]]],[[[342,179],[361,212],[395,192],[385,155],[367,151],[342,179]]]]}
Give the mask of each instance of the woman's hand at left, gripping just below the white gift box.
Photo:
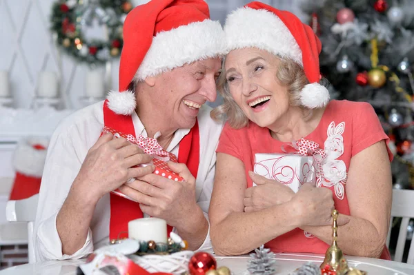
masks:
{"type": "Polygon", "coordinates": [[[251,171],[248,175],[257,186],[247,188],[244,192],[244,212],[255,212],[286,203],[295,196],[293,190],[279,181],[266,179],[251,171]]]}

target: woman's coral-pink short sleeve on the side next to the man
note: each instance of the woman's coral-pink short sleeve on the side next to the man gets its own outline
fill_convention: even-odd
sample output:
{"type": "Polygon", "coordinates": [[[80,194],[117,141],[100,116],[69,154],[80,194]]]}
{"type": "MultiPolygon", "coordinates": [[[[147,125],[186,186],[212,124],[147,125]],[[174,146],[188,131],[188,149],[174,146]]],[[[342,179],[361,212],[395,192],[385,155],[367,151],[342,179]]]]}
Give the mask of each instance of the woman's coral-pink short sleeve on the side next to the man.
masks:
{"type": "Polygon", "coordinates": [[[243,161],[243,154],[241,152],[242,148],[239,146],[241,143],[239,132],[241,132],[241,130],[235,130],[231,128],[228,123],[226,123],[226,125],[224,125],[223,131],[221,132],[219,145],[217,146],[216,152],[230,154],[230,156],[234,156],[237,159],[243,161]],[[239,136],[239,138],[237,138],[237,136],[239,136]]]}

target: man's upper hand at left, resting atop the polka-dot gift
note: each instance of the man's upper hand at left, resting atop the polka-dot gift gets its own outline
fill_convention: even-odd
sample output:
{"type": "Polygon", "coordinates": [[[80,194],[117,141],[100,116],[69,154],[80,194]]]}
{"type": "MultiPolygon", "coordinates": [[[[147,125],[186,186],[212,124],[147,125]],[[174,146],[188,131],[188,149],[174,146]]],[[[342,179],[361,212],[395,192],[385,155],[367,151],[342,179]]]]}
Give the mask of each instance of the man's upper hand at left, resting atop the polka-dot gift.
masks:
{"type": "Polygon", "coordinates": [[[137,145],[124,138],[113,139],[111,133],[104,134],[88,151],[74,185],[94,201],[99,200],[128,179],[152,173],[153,165],[135,167],[150,161],[151,156],[137,145]]]}

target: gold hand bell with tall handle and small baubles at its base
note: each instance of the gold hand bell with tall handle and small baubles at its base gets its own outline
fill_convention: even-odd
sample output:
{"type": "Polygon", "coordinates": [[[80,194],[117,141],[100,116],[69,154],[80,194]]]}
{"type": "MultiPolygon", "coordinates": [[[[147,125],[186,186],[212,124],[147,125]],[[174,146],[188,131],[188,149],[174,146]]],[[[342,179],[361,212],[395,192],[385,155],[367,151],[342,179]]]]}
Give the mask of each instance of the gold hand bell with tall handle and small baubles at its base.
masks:
{"type": "Polygon", "coordinates": [[[366,272],[348,266],[342,249],[337,246],[337,218],[339,212],[332,212],[332,245],[326,250],[324,262],[320,265],[322,275],[366,275],[366,272]]]}

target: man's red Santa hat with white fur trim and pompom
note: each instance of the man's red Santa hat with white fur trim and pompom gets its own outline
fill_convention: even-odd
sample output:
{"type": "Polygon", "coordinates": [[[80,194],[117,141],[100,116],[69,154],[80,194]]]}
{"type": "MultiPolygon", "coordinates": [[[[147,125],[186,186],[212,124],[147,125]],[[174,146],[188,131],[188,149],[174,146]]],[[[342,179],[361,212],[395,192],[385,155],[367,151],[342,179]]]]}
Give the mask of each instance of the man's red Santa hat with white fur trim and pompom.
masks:
{"type": "Polygon", "coordinates": [[[116,114],[135,110],[132,80],[141,81],[173,68],[224,54],[224,32],[210,20],[204,0],[152,0],[128,13],[119,64],[119,92],[108,94],[116,114]]]}

